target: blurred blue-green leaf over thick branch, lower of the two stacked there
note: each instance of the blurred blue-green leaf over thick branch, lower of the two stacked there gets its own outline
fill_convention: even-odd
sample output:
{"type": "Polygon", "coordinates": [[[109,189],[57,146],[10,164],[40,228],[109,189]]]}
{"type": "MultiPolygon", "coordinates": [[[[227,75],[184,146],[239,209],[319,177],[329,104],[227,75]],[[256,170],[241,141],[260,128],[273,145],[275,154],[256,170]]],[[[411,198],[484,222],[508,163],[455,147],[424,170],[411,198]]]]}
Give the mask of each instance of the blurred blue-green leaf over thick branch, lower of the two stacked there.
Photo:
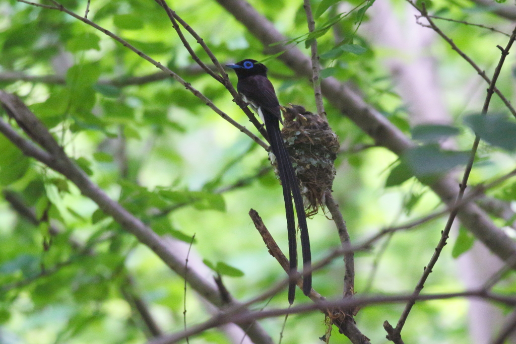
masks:
{"type": "Polygon", "coordinates": [[[423,145],[408,150],[404,160],[416,176],[436,175],[465,165],[469,152],[441,151],[439,145],[423,145]]]}

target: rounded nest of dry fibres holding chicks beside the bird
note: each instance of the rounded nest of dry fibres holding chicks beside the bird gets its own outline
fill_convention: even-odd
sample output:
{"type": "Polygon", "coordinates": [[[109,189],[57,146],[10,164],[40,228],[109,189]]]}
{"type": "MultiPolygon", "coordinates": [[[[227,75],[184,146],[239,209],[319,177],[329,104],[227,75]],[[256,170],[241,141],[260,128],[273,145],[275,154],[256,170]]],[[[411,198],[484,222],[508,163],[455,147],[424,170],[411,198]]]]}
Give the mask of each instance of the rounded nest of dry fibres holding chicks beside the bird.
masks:
{"type": "Polygon", "coordinates": [[[291,104],[283,116],[283,139],[301,184],[307,216],[313,216],[324,206],[325,193],[331,192],[338,137],[325,119],[300,105],[291,104]]]}

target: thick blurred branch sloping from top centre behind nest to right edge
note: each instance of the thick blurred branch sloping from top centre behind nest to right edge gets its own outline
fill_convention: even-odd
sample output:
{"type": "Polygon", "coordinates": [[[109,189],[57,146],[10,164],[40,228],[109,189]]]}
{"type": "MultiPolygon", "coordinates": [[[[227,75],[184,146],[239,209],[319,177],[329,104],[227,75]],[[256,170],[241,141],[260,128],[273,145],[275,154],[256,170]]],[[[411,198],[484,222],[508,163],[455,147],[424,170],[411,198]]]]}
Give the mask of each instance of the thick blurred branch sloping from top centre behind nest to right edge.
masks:
{"type": "MultiPolygon", "coordinates": [[[[282,44],[281,42],[286,42],[288,39],[248,2],[244,0],[217,0],[217,2],[246,26],[249,32],[262,42],[268,53],[275,54],[285,51],[278,59],[282,60],[298,76],[312,77],[310,59],[297,47],[287,47],[282,44]],[[278,42],[280,43],[271,46],[278,42]]],[[[366,104],[362,97],[346,84],[340,83],[333,77],[328,77],[321,80],[321,90],[326,99],[372,137],[376,145],[381,145],[397,155],[401,155],[414,146],[414,142],[379,111],[366,104]]],[[[450,207],[454,205],[459,189],[453,175],[444,175],[429,186],[445,204],[450,207]]],[[[513,240],[498,228],[477,205],[472,203],[464,205],[461,207],[458,217],[469,231],[501,259],[505,260],[516,253],[516,244],[513,240]]]]}

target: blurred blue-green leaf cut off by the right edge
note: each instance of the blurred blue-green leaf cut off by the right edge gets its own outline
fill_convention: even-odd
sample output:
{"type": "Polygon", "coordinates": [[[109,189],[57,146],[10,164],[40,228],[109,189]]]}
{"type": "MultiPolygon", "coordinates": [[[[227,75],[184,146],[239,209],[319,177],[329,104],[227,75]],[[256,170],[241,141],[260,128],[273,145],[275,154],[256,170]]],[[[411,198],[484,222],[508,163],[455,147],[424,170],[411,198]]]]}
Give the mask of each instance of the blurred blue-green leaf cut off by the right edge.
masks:
{"type": "Polygon", "coordinates": [[[489,144],[507,151],[516,150],[516,123],[504,114],[473,114],[466,117],[464,123],[489,144]]]}

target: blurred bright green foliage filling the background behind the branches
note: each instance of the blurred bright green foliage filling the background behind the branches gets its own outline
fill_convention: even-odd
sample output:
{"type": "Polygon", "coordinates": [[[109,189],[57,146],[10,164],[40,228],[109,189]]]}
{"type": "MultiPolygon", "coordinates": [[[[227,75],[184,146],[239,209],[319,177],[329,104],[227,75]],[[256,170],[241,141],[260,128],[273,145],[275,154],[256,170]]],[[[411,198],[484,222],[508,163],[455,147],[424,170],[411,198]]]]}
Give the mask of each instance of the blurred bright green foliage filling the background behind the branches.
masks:
{"type": "MultiPolygon", "coordinates": [[[[85,13],[87,4],[85,0],[61,3],[77,13],[85,13]]],[[[413,20],[406,3],[393,3],[397,15],[413,20]]],[[[442,16],[511,30],[510,23],[465,0],[425,3],[442,16]]],[[[469,157],[472,130],[483,139],[477,153],[480,163],[471,175],[473,184],[513,169],[514,119],[497,114],[507,112],[497,99],[491,106],[493,115],[474,114],[482,107],[482,96],[474,97],[474,89],[465,90],[464,85],[478,83],[479,89],[487,86],[483,81],[471,81],[476,77],[474,71],[442,41],[433,43],[431,53],[439,63],[442,94],[454,123],[414,126],[382,63],[382,58],[398,53],[376,47],[360,29],[368,21],[373,0],[314,0],[317,30],[312,34],[308,34],[300,1],[253,0],[251,4],[307,55],[305,48],[317,39],[321,76],[335,77],[361,90],[369,104],[418,143],[401,157],[383,148],[350,150],[338,157],[333,189],[353,242],[438,207],[437,196],[414,176],[431,182],[451,169],[460,171],[469,157]],[[439,147],[447,139],[455,140],[456,150],[439,147]]],[[[270,57],[264,55],[265,47],[217,3],[191,0],[170,5],[221,62],[270,57]]],[[[193,61],[166,13],[155,2],[92,0],[88,18],[178,72],[251,128],[221,85],[188,69],[193,61]]],[[[478,27],[451,22],[439,25],[488,70],[499,56],[496,44],[505,45],[507,41],[478,27]]],[[[188,40],[209,62],[195,40],[188,40]]],[[[155,73],[156,68],[66,13],[15,0],[1,2],[0,51],[0,74],[57,75],[65,80],[0,81],[0,88],[21,96],[78,166],[113,199],[159,235],[184,241],[185,245],[191,242],[192,255],[200,255],[214,276],[221,274],[237,299],[249,300],[284,278],[247,215],[250,208],[259,211],[286,250],[280,185],[267,169],[266,152],[248,137],[172,79],[127,84],[132,77],[155,73]],[[118,82],[107,82],[114,79],[118,82]]],[[[269,59],[266,64],[280,103],[315,109],[307,80],[295,76],[279,60],[269,59]]],[[[230,77],[236,82],[234,75],[230,77]]],[[[505,68],[499,78],[497,86],[505,94],[513,94],[513,77],[505,68]]],[[[372,143],[335,108],[326,106],[329,122],[343,146],[372,143]]],[[[127,290],[147,302],[164,331],[183,329],[184,282],[178,276],[80,195],[71,182],[24,157],[3,136],[0,150],[2,189],[17,195],[34,212],[33,219],[27,219],[9,206],[7,196],[0,204],[0,342],[144,342],[147,332],[131,298],[127,298],[127,290]]],[[[514,202],[516,183],[508,181],[489,190],[489,194],[514,202]]],[[[501,226],[509,223],[495,216],[493,219],[501,226]]],[[[443,227],[444,220],[434,220],[415,231],[396,233],[370,251],[357,253],[356,292],[364,292],[366,286],[370,286],[369,293],[411,291],[443,227]],[[376,261],[376,257],[381,259],[376,261]]],[[[309,228],[315,260],[340,244],[332,222],[322,212],[309,221],[309,228]]],[[[474,238],[461,227],[450,241],[455,242],[453,251],[448,250],[452,245],[443,251],[425,285],[427,292],[463,288],[454,258],[469,250],[474,238]]],[[[336,260],[315,273],[314,287],[329,299],[339,298],[343,276],[343,264],[336,260]]],[[[499,290],[513,293],[515,288],[514,276],[509,274],[499,290]]],[[[186,299],[188,325],[205,319],[204,305],[191,289],[186,299]]],[[[302,302],[308,301],[298,292],[296,303],[302,302]]],[[[273,298],[268,306],[287,306],[286,293],[273,298]]],[[[386,342],[382,323],[395,323],[402,307],[364,307],[357,324],[372,342],[386,342]]],[[[469,343],[466,310],[466,300],[417,303],[404,327],[404,339],[469,343]]],[[[282,323],[283,319],[262,322],[276,339],[282,323]]],[[[319,313],[290,316],[282,342],[316,342],[325,331],[319,313]]],[[[190,342],[225,343],[228,338],[208,331],[190,342]]],[[[349,341],[334,332],[331,342],[349,341]]]]}

